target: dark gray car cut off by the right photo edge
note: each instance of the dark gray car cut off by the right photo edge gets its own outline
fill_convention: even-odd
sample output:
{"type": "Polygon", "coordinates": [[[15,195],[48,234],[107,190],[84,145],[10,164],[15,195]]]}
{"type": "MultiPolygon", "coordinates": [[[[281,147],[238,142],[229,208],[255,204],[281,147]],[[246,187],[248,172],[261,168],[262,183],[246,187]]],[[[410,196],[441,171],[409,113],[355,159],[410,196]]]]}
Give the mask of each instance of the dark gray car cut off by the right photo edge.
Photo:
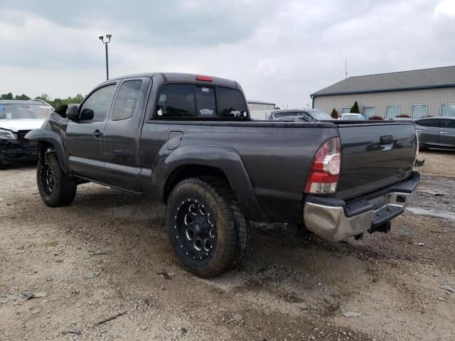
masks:
{"type": "Polygon", "coordinates": [[[420,148],[455,149],[455,117],[427,117],[414,123],[420,148]]]}

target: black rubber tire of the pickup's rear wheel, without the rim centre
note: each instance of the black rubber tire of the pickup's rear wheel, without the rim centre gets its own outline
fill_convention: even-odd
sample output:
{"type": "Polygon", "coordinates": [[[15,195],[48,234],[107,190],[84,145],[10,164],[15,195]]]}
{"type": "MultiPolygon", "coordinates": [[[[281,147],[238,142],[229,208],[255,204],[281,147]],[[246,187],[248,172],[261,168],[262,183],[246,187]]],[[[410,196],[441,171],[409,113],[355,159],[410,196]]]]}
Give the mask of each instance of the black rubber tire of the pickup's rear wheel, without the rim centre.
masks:
{"type": "MultiPolygon", "coordinates": [[[[209,214],[210,215],[210,214],[209,214]]],[[[186,222],[185,222],[186,224],[186,222]]],[[[166,228],[171,247],[182,266],[192,274],[210,278],[237,266],[249,244],[249,221],[235,200],[228,184],[212,177],[188,178],[173,188],[168,198],[166,228]],[[183,247],[182,229],[179,224],[181,207],[190,200],[196,201],[215,217],[215,245],[204,259],[196,259],[183,247]],[[180,239],[179,239],[180,237],[180,239]]]]}

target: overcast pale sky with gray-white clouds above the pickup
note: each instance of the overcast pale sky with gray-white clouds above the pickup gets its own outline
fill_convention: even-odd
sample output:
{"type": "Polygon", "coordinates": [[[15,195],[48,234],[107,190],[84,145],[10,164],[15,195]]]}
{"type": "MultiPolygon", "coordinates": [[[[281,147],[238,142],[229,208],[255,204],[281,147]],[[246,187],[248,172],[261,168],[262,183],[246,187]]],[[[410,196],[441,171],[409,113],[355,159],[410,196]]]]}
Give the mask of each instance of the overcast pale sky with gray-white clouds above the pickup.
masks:
{"type": "Polygon", "coordinates": [[[87,94],[168,71],[237,80],[248,99],[304,107],[348,75],[455,65],[455,0],[0,0],[0,93],[87,94]]]}

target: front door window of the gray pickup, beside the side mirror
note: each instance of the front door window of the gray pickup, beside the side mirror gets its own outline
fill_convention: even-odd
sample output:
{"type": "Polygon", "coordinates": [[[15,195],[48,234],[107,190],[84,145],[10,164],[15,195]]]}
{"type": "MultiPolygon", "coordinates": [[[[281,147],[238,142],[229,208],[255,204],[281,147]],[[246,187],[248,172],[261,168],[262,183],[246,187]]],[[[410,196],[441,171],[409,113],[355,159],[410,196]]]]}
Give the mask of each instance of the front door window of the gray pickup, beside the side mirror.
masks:
{"type": "Polygon", "coordinates": [[[96,90],[80,108],[80,119],[90,121],[104,121],[109,115],[109,109],[114,97],[115,85],[107,85],[96,90]]]}

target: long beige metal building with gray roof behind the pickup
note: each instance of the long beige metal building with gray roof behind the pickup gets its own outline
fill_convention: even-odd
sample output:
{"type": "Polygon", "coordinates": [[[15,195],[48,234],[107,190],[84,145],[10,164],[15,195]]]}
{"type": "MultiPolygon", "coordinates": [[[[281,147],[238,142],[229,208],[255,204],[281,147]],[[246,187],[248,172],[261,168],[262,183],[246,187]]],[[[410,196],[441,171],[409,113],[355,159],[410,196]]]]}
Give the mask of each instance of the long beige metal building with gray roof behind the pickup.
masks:
{"type": "Polygon", "coordinates": [[[348,77],[311,98],[314,108],[329,114],[349,112],[357,101],[367,119],[455,117],[455,66],[348,77]]]}

